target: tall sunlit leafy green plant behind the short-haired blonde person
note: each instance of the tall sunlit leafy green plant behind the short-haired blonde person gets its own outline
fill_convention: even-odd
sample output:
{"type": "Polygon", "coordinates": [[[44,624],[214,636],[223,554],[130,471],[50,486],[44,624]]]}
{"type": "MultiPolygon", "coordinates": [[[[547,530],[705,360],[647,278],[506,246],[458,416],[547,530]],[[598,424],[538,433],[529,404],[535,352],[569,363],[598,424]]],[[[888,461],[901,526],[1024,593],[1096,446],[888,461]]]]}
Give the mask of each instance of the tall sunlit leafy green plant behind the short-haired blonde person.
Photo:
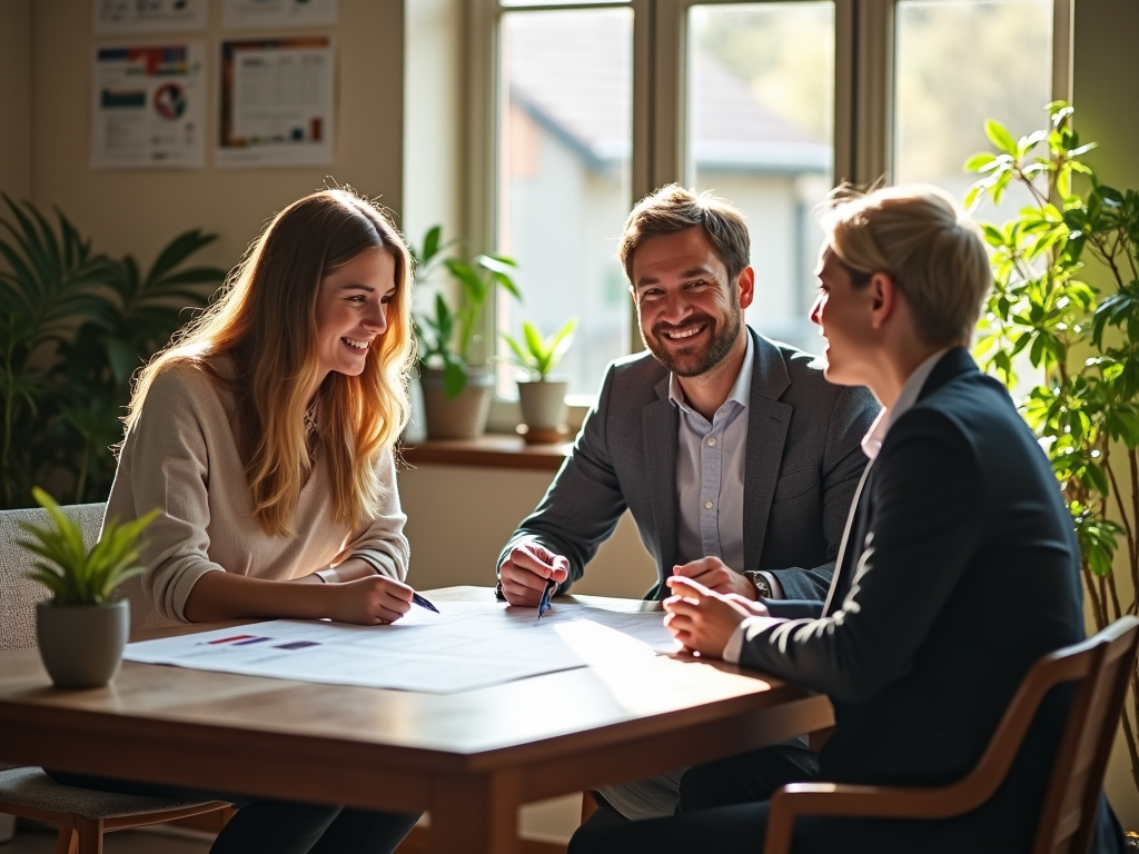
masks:
{"type": "MultiPolygon", "coordinates": [[[[1116,583],[1116,573],[1126,573],[1139,591],[1139,194],[1099,183],[1080,159],[1093,145],[1081,145],[1072,107],[1056,101],[1047,109],[1047,126],[1021,138],[989,121],[995,151],[965,164],[983,175],[966,196],[970,206],[985,197],[1000,202],[1010,186],[1032,199],[1005,223],[982,223],[993,249],[993,289],[975,353],[1010,389],[1017,354],[1042,372],[1019,405],[1072,514],[1093,619],[1103,629],[1139,610],[1134,596],[1121,600],[1116,583]],[[1082,195],[1073,190],[1076,175],[1090,186],[1082,195]],[[1106,271],[1103,297],[1083,278],[1085,258],[1106,271]]],[[[1139,788],[1136,673],[1131,700],[1122,726],[1139,788]]]]}

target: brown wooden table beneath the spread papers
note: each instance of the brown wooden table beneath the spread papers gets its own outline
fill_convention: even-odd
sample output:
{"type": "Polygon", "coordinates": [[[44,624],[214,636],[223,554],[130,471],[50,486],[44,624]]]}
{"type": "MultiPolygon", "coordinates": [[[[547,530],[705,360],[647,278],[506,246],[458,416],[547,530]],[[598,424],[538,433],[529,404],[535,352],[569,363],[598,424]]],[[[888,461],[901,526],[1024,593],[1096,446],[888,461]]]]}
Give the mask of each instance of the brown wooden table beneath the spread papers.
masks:
{"type": "MultiPolygon", "coordinates": [[[[483,588],[429,597],[493,599],[483,588]]],[[[615,610],[659,607],[577,600],[615,610]]],[[[511,854],[523,803],[720,758],[831,723],[825,697],[689,657],[427,695],[130,662],[107,688],[64,691],[50,685],[34,649],[0,652],[5,761],[277,798],[429,810],[429,851],[439,853],[511,854]]]]}

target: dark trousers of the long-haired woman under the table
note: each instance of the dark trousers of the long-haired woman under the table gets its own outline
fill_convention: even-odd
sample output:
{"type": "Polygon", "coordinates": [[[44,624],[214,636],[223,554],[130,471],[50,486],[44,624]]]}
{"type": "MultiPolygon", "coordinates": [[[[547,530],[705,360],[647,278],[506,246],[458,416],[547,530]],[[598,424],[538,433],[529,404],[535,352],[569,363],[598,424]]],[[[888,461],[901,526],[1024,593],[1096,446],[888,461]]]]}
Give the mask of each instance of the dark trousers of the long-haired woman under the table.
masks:
{"type": "Polygon", "coordinates": [[[419,820],[401,813],[44,771],[56,782],[84,789],[232,804],[237,814],[218,835],[210,854],[391,854],[419,820]]]}

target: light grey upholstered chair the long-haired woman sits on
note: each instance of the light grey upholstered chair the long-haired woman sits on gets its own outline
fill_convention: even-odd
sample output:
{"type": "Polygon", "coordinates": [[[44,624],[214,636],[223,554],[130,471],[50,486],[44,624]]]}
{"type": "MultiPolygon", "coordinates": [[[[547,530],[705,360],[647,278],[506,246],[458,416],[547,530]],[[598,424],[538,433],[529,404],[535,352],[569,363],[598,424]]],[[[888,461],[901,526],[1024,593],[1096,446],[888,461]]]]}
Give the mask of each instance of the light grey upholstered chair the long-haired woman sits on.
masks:
{"type": "MultiPolygon", "coordinates": [[[[65,507],[77,522],[88,548],[95,544],[105,504],[65,507]]],[[[0,650],[35,646],[35,602],[43,589],[28,581],[31,556],[16,544],[25,537],[21,522],[50,525],[46,511],[0,511],[0,650]]],[[[41,769],[0,763],[0,813],[34,819],[59,828],[57,854],[101,854],[108,830],[159,824],[213,811],[231,811],[219,802],[139,797],[60,786],[41,769]]]]}

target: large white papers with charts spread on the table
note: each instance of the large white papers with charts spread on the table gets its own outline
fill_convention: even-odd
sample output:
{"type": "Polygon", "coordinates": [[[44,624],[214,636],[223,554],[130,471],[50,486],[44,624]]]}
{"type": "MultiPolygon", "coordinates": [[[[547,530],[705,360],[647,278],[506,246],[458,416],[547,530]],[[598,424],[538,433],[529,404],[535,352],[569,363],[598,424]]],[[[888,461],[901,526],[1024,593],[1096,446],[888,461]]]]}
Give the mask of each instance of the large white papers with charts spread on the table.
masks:
{"type": "Polygon", "coordinates": [[[542,673],[672,652],[661,611],[439,602],[392,625],[278,619],[126,647],[129,662],[304,682],[456,693],[542,673]]]}

